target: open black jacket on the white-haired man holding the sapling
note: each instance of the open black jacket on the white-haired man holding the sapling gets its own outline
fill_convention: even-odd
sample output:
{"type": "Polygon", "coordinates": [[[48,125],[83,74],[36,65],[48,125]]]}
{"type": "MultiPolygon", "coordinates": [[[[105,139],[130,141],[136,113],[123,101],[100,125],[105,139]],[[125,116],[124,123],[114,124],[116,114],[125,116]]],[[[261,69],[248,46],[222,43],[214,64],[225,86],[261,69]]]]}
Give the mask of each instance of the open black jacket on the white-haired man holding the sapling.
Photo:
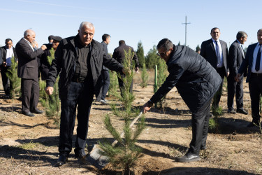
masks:
{"type": "MultiPolygon", "coordinates": [[[[75,48],[76,37],[78,37],[78,35],[64,38],[59,43],[49,69],[48,79],[46,80],[47,87],[53,86],[57,76],[60,75],[59,97],[61,99],[67,99],[68,85],[74,73],[75,62],[78,59],[75,48]]],[[[97,90],[100,90],[102,66],[105,65],[112,71],[122,71],[123,66],[116,62],[115,59],[112,59],[108,54],[105,54],[101,43],[93,39],[91,46],[90,66],[92,69],[92,84],[94,85],[94,93],[96,93],[97,90]]]]}

